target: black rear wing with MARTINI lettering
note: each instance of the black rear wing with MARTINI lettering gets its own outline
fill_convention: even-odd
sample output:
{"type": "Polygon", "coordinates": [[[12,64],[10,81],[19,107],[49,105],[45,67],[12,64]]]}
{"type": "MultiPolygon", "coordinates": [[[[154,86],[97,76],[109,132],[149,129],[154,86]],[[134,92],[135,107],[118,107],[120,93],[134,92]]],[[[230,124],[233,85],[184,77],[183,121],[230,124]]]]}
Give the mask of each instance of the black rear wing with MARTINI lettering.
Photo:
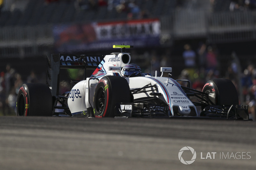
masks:
{"type": "Polygon", "coordinates": [[[59,92],[60,69],[84,69],[84,79],[86,79],[86,70],[95,70],[103,58],[103,55],[80,55],[78,57],[76,55],[51,54],[47,56],[46,84],[51,89],[52,95],[58,95],[59,92]]]}

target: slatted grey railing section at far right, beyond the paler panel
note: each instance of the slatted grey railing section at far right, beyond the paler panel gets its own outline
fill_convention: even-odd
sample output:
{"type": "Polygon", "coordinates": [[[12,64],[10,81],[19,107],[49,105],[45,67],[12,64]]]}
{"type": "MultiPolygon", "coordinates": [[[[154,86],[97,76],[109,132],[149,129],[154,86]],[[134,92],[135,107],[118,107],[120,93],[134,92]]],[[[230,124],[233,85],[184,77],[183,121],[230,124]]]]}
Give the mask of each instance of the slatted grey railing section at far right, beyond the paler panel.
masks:
{"type": "Polygon", "coordinates": [[[256,38],[256,12],[221,12],[208,17],[208,40],[211,42],[250,41],[256,38]]]}

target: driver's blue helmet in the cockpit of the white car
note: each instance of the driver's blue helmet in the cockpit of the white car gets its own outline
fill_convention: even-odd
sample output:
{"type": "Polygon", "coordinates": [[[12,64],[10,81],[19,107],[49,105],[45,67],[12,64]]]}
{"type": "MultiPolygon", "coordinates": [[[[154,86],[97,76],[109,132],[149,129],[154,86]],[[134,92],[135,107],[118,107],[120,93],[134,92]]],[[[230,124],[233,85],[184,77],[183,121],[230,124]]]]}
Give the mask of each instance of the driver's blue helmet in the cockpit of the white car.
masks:
{"type": "Polygon", "coordinates": [[[127,64],[121,70],[121,74],[123,77],[138,77],[141,76],[140,66],[136,64],[127,64]]]}

